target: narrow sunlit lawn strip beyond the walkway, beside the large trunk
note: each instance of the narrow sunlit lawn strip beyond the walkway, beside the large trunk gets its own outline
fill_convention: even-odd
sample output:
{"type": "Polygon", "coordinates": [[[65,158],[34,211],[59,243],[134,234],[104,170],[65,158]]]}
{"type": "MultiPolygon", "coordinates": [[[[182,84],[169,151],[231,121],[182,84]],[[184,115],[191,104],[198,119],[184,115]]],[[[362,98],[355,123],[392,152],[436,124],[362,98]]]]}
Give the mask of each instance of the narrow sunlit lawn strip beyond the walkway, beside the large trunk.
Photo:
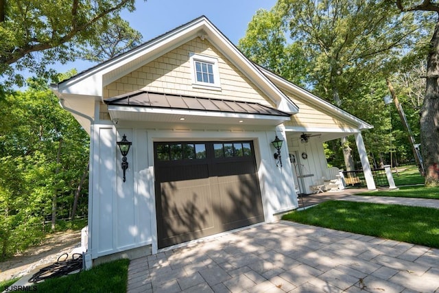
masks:
{"type": "Polygon", "coordinates": [[[379,191],[367,191],[355,194],[356,196],[394,196],[397,198],[429,198],[439,200],[439,188],[438,187],[400,187],[396,190],[379,190],[379,191]]]}

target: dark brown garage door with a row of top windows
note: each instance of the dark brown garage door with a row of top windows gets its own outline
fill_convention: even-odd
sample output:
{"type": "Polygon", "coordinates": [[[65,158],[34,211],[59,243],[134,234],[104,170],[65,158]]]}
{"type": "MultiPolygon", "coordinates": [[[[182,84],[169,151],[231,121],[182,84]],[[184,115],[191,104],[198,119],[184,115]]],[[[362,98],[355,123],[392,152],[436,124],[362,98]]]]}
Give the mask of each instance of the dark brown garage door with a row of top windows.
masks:
{"type": "Polygon", "coordinates": [[[264,220],[251,141],[154,143],[158,248],[264,220]]]}

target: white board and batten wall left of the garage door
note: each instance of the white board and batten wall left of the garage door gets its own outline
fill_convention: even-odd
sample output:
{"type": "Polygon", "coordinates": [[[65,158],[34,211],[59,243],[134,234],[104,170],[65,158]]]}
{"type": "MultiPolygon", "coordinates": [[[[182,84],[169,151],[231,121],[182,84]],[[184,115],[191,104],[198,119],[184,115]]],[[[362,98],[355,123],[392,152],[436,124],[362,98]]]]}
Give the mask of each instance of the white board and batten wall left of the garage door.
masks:
{"type": "Polygon", "coordinates": [[[123,250],[152,244],[152,189],[145,179],[152,178],[148,167],[145,130],[115,130],[108,125],[95,125],[93,131],[93,192],[88,199],[93,207],[89,225],[91,255],[95,259],[123,250]],[[118,134],[117,134],[118,132],[118,134]],[[122,134],[132,139],[128,153],[129,168],[123,183],[121,153],[116,141],[122,134]],[[136,160],[134,160],[136,158],[136,160]],[[143,180],[140,180],[142,178],[143,180]]]}

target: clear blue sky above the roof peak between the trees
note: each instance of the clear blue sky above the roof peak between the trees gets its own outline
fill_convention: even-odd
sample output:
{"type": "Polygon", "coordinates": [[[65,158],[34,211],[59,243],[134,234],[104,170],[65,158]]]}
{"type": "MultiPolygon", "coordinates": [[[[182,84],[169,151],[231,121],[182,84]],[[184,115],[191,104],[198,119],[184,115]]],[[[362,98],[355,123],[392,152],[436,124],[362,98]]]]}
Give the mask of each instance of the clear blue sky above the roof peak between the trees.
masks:
{"type": "MultiPolygon", "coordinates": [[[[121,16],[141,32],[146,42],[204,15],[237,45],[256,11],[270,10],[275,3],[276,0],[136,0],[136,10],[122,12],[121,16]]],[[[93,65],[95,63],[78,60],[56,65],[54,69],[64,72],[75,68],[81,72],[93,65]]]]}

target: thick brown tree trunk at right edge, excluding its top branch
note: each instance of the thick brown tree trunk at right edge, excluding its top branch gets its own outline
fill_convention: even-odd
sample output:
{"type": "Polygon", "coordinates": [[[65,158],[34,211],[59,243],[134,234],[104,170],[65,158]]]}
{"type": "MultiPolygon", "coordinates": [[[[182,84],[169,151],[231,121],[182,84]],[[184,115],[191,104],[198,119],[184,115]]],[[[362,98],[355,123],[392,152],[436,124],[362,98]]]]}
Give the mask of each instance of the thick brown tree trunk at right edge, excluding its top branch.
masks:
{"type": "Polygon", "coordinates": [[[427,89],[420,109],[420,143],[425,186],[439,186],[439,21],[427,57],[427,89]]]}

